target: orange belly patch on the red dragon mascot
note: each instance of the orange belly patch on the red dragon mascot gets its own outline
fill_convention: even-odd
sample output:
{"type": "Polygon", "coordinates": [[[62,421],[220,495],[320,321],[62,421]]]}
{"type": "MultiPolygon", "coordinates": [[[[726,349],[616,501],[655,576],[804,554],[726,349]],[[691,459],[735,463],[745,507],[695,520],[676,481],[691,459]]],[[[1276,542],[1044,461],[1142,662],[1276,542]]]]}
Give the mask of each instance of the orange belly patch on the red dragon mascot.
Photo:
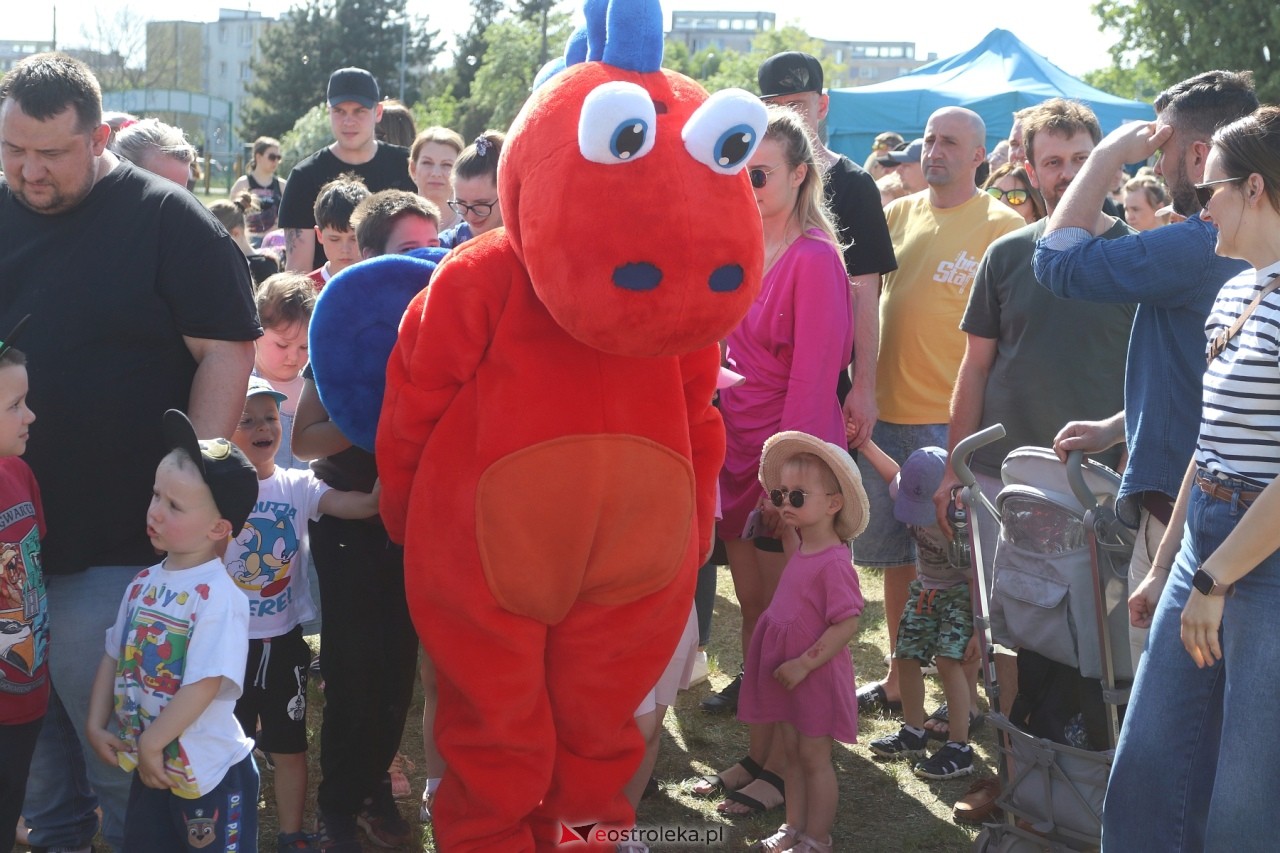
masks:
{"type": "Polygon", "coordinates": [[[692,543],[694,469],[636,435],[568,435],[480,476],[476,538],[498,603],[556,625],[579,601],[622,605],[666,587],[692,543]]]}

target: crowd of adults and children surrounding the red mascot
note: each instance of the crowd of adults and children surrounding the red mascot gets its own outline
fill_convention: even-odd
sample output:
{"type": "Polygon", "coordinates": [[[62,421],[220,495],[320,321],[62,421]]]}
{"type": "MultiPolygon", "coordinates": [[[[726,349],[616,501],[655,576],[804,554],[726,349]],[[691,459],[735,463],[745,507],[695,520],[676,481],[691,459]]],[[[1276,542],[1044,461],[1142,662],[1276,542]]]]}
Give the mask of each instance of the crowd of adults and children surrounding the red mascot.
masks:
{"type": "MultiPolygon", "coordinates": [[[[902,719],[873,754],[925,779],[974,772],[973,571],[998,526],[975,512],[983,553],[957,562],[947,459],[1000,423],[972,462],[988,493],[1020,446],[1123,470],[1137,676],[1103,849],[1265,849],[1272,783],[1253,768],[1272,749],[1228,726],[1280,699],[1280,534],[1262,520],[1280,505],[1280,108],[1248,72],[1213,70],[1106,136],[1075,101],[1019,110],[988,156],[983,119],[948,106],[919,138],[881,133],[859,167],[820,138],[815,58],[769,58],[759,91],[768,126],[745,170],[763,282],[722,342],[718,546],[636,711],[632,807],[705,661],[718,565],[742,669],[701,708],[737,712],[749,749],[691,792],[726,816],[783,808],[758,849],[851,847],[832,833],[831,752],[859,713],[902,719]],[[854,564],[882,575],[888,628],[887,675],[860,688],[854,564]],[[929,665],[946,697],[932,713],[929,665]]],[[[360,261],[500,228],[506,140],[415,132],[360,68],[332,74],[326,102],[332,145],[285,179],[261,137],[205,207],[182,131],[108,124],[81,63],[37,55],[0,82],[0,849],[19,818],[32,849],[99,834],[118,850],[256,849],[262,762],[279,830],[264,847],[407,844],[415,678],[431,817],[448,774],[435,667],[379,520],[378,460],[330,419],[308,324],[360,261]]],[[[988,817],[997,785],[979,780],[957,820],[988,817]]]]}

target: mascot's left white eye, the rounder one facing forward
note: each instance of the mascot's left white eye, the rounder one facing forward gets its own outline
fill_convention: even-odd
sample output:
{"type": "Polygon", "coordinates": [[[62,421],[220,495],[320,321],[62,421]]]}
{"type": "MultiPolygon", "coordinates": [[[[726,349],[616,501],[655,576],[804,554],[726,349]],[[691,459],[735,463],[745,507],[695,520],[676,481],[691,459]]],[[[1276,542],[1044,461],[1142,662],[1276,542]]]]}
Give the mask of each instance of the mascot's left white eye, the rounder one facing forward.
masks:
{"type": "Polygon", "coordinates": [[[591,163],[614,165],[653,151],[658,111],[635,83],[614,81],[591,90],[577,120],[577,147],[591,163]]]}

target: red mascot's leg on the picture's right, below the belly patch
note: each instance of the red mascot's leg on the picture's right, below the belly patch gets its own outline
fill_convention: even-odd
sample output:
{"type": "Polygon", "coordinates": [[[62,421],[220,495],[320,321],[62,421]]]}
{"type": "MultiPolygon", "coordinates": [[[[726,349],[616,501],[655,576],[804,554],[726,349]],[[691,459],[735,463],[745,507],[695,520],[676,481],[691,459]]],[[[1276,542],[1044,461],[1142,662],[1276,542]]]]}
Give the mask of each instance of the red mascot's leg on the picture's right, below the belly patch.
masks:
{"type": "MultiPolygon", "coordinates": [[[[556,719],[556,770],[535,815],[538,849],[554,849],[566,839],[566,826],[634,824],[622,786],[644,754],[635,712],[689,619],[692,579],[681,573],[664,589],[628,605],[579,603],[550,629],[547,685],[556,719]]],[[[614,844],[589,836],[589,847],[559,849],[613,850],[614,844]]]]}

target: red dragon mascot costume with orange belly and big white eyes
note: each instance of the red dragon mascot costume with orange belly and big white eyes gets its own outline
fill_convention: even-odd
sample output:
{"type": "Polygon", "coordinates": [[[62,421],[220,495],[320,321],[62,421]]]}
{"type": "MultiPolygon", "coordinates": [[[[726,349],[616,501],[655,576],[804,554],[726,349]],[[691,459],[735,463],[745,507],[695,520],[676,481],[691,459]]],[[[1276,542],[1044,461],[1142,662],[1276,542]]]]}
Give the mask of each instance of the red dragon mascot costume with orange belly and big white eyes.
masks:
{"type": "Polygon", "coordinates": [[[660,59],[658,0],[588,3],[503,149],[506,229],[445,259],[388,362],[381,511],[438,671],[449,853],[634,824],[632,715],[709,552],[767,118],[660,59]]]}

